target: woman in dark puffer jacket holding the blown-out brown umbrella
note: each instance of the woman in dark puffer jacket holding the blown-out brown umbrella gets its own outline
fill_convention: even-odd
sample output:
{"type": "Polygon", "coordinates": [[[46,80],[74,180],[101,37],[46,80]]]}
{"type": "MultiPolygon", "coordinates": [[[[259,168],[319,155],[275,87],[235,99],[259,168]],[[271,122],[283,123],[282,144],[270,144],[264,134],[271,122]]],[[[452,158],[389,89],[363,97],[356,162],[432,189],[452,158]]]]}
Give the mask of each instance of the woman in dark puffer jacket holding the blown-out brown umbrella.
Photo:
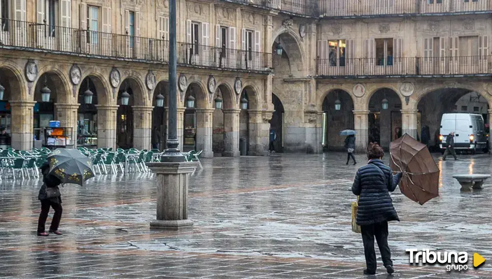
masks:
{"type": "Polygon", "coordinates": [[[393,207],[389,192],[393,192],[400,182],[402,172],[393,176],[393,171],[381,160],[384,156],[382,148],[374,143],[367,149],[367,165],[357,170],[352,192],[359,196],[356,223],[361,226],[362,242],[367,269],[365,275],[376,273],[376,253],[374,237],[381,252],[382,262],[386,271],[392,274],[393,262],[388,246],[388,221],[400,221],[393,207]]]}

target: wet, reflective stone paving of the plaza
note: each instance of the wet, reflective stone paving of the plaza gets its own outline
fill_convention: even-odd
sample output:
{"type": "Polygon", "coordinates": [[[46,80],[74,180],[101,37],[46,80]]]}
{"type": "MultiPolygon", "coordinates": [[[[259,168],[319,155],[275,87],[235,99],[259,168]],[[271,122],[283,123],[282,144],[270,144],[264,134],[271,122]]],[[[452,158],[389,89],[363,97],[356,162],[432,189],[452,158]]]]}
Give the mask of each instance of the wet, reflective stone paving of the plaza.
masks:
{"type": "MultiPolygon", "coordinates": [[[[150,173],[65,186],[64,235],[48,237],[36,235],[40,181],[0,181],[0,278],[364,277],[362,239],[350,230],[350,186],[362,164],[346,166],[345,156],[203,159],[205,169],[190,178],[194,226],[180,232],[149,228],[156,211],[150,173]]],[[[398,189],[392,194],[401,219],[390,223],[397,271],[388,276],[378,256],[378,273],[369,277],[492,278],[492,180],[462,193],[451,177],[490,174],[492,157],[460,158],[438,162],[440,197],[425,205],[398,189]],[[411,266],[408,248],[468,252],[469,270],[411,266]],[[486,259],[478,269],[475,252],[486,259]]]]}

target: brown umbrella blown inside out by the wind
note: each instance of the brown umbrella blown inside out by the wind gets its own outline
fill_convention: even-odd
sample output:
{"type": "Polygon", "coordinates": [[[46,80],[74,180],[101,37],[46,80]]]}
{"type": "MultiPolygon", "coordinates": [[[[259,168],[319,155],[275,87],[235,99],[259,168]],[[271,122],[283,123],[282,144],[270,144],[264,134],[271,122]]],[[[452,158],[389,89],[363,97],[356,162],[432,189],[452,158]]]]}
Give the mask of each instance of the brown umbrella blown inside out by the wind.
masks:
{"type": "Polygon", "coordinates": [[[420,205],[439,195],[439,168],[427,145],[409,134],[404,134],[390,144],[390,166],[402,171],[400,190],[420,205]]]}

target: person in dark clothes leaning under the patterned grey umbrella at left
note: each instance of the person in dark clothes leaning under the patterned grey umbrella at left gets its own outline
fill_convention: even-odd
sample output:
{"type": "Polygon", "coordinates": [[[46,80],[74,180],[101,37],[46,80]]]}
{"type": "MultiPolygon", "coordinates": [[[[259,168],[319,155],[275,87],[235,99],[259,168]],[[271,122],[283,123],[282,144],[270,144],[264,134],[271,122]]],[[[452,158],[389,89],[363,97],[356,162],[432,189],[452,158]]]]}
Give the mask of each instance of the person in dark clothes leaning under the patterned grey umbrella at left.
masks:
{"type": "Polygon", "coordinates": [[[48,198],[46,193],[47,188],[56,188],[59,191],[58,185],[61,184],[61,181],[48,173],[50,170],[50,165],[48,163],[44,163],[40,168],[43,173],[43,186],[41,186],[38,194],[38,199],[41,201],[41,213],[38,219],[38,235],[49,235],[49,233],[45,231],[45,223],[48,218],[48,213],[50,212],[50,207],[53,207],[53,210],[55,211],[53,220],[51,221],[50,232],[61,235],[62,233],[58,230],[61,221],[61,213],[63,211],[63,208],[61,207],[61,196],[48,198]]]}

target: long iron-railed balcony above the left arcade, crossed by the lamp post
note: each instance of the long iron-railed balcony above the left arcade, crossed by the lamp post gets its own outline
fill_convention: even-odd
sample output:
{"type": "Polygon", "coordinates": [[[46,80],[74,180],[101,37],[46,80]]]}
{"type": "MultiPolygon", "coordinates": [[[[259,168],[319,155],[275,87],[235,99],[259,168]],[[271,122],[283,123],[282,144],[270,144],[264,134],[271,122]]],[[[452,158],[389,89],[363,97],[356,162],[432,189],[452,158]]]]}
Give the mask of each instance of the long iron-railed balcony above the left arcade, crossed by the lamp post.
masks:
{"type": "MultiPolygon", "coordinates": [[[[167,63],[169,42],[161,39],[2,19],[0,48],[146,63],[167,63]]],[[[177,44],[179,66],[267,73],[271,53],[177,44]]]]}

